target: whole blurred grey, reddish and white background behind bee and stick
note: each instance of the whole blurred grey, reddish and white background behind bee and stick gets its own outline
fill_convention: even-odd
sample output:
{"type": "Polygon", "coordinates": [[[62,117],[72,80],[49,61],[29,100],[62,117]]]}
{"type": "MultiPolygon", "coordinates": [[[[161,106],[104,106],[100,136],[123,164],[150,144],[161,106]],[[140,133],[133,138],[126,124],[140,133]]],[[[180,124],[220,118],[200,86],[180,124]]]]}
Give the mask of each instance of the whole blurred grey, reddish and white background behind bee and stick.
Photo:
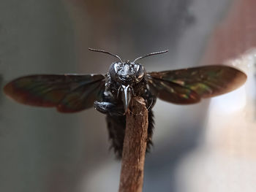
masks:
{"type": "MultiPolygon", "coordinates": [[[[255,0],[1,0],[0,85],[27,74],[148,72],[228,64],[246,85],[200,104],[157,101],[143,191],[256,191],[255,0]]],[[[17,104],[0,91],[0,191],[118,191],[105,115],[17,104]]]]}

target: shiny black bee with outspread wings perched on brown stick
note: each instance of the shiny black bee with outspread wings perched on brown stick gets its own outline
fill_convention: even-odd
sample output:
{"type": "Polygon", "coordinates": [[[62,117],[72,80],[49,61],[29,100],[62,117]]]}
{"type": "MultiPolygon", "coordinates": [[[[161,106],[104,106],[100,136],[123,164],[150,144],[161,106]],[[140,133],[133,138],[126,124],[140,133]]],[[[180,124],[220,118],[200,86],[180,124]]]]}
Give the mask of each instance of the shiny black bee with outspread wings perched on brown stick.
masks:
{"type": "Polygon", "coordinates": [[[165,72],[146,72],[137,61],[160,51],[122,61],[118,58],[107,74],[37,74],[20,77],[4,86],[15,101],[39,107],[56,107],[59,112],[79,112],[90,107],[106,114],[111,147],[121,158],[125,115],[133,96],[142,96],[148,108],[148,143],[154,128],[152,107],[157,98],[173,104],[195,104],[200,99],[233,91],[246,81],[246,74],[230,66],[200,66],[165,72]]]}

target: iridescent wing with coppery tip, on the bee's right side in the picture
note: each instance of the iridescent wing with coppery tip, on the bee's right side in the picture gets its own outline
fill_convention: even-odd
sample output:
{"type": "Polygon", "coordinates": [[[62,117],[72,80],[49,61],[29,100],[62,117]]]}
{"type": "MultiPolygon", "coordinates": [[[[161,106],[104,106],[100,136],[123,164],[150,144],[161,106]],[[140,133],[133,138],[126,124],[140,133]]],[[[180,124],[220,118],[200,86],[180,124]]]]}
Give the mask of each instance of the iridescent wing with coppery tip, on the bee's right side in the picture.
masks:
{"type": "Polygon", "coordinates": [[[148,73],[148,83],[159,99],[193,104],[200,98],[219,96],[239,88],[246,74],[230,66],[200,66],[148,73]]]}

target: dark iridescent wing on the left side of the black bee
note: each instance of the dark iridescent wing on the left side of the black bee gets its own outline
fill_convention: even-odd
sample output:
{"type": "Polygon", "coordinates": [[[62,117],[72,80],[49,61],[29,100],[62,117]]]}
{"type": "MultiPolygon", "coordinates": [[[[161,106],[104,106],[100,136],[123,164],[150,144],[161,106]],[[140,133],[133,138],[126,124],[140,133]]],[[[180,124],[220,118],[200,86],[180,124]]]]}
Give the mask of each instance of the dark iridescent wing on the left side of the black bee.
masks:
{"type": "Polygon", "coordinates": [[[78,112],[101,99],[104,88],[102,74],[40,74],[9,82],[4,86],[4,93],[22,104],[56,107],[59,112],[78,112]]]}

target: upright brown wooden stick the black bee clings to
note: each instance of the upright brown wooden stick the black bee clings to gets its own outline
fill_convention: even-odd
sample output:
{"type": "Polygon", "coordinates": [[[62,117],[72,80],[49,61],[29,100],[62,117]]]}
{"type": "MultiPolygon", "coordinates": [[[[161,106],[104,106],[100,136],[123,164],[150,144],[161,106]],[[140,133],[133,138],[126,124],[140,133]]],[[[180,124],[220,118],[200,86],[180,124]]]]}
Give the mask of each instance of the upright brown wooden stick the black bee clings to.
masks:
{"type": "Polygon", "coordinates": [[[148,110],[141,97],[132,99],[127,113],[119,192],[141,192],[148,137],[148,110]]]}

